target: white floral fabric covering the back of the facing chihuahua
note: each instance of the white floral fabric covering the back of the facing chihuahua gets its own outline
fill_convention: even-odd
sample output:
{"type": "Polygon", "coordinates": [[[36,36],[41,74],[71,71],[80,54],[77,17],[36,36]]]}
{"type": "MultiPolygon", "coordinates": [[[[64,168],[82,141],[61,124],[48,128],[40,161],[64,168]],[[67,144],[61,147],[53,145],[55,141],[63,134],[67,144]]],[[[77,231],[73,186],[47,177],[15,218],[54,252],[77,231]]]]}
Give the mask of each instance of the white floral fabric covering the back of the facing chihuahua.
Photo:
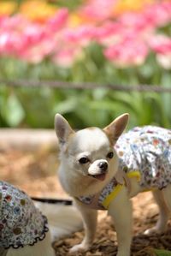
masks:
{"type": "Polygon", "coordinates": [[[115,145],[120,170],[139,170],[143,188],[165,188],[171,183],[171,130],[152,126],[133,128],[115,145]]]}

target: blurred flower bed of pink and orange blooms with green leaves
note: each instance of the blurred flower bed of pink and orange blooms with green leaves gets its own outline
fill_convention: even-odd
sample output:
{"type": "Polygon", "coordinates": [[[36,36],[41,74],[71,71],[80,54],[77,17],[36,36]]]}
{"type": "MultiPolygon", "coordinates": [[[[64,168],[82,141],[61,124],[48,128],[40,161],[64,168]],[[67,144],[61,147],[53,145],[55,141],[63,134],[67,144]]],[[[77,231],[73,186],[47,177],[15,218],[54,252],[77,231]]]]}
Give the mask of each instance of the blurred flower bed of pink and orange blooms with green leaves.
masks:
{"type": "Polygon", "coordinates": [[[170,128],[171,92],[108,88],[171,88],[170,21],[164,0],[0,1],[0,127],[53,128],[56,112],[74,128],[103,127],[129,112],[129,127],[170,128]]]}

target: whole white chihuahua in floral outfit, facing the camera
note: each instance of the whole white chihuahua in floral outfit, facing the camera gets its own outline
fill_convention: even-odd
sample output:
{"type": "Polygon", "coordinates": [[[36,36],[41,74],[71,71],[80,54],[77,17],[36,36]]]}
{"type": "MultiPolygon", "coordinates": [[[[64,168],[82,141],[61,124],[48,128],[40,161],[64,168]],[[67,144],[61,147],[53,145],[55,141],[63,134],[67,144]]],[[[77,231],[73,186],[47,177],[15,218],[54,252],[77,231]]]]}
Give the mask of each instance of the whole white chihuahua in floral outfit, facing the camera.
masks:
{"type": "Polygon", "coordinates": [[[56,135],[61,149],[59,179],[64,190],[74,197],[85,225],[85,238],[71,248],[71,253],[90,249],[97,210],[103,209],[115,221],[117,256],[129,256],[132,241],[129,198],[151,188],[160,216],[156,226],[145,234],[163,232],[166,228],[171,210],[171,131],[147,126],[122,134],[127,121],[128,114],[124,114],[106,128],[74,132],[67,120],[56,114],[56,135]]]}

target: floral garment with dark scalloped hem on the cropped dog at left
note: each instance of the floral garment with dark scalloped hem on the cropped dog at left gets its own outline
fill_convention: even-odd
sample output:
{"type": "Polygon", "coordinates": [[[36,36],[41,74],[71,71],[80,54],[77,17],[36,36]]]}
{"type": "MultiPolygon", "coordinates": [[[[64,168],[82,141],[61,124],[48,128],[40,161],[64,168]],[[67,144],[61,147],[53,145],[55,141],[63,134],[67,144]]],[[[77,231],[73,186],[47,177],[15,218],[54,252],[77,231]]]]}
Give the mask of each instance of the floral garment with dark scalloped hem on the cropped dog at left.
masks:
{"type": "Polygon", "coordinates": [[[0,181],[0,249],[24,247],[41,241],[48,231],[47,218],[26,193],[0,181]]]}

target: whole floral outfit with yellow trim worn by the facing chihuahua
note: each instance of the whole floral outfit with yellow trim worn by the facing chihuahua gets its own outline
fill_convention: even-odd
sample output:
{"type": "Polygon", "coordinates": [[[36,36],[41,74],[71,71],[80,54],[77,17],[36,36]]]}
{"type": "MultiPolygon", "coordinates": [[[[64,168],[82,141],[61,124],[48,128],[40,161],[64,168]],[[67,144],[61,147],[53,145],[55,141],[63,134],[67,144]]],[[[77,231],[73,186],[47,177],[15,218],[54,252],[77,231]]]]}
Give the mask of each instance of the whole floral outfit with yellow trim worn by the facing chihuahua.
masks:
{"type": "Polygon", "coordinates": [[[92,209],[106,210],[111,200],[127,186],[129,179],[137,178],[143,191],[165,188],[171,183],[171,131],[145,126],[122,134],[115,144],[119,157],[118,173],[125,180],[121,184],[115,176],[103,190],[79,200],[92,209]]]}

